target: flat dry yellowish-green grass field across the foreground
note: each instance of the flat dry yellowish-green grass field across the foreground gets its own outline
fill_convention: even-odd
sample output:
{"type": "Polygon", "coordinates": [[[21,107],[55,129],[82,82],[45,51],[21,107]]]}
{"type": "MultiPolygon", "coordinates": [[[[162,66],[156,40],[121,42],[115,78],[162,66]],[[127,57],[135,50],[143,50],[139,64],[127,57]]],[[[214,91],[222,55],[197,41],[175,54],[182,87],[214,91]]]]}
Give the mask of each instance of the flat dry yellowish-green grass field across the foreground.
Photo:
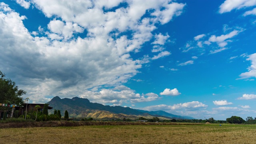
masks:
{"type": "Polygon", "coordinates": [[[256,125],[105,125],[2,128],[1,144],[255,144],[256,125]]]}

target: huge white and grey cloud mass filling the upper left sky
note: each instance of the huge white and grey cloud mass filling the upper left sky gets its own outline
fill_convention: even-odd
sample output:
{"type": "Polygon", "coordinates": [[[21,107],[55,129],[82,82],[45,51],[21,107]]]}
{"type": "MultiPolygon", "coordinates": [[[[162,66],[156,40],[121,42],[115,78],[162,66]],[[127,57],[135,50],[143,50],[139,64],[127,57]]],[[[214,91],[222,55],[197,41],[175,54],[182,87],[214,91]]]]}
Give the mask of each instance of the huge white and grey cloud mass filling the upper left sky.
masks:
{"type": "MultiPolygon", "coordinates": [[[[24,8],[41,10],[50,21],[37,32],[29,32],[23,24],[26,16],[0,3],[0,69],[12,73],[34,102],[47,102],[49,98],[45,96],[70,98],[88,93],[94,100],[100,94],[102,100],[116,102],[110,100],[109,93],[117,97],[112,100],[123,100],[118,92],[101,86],[125,83],[139,72],[142,64],[170,55],[161,49],[152,58],[133,59],[130,53],[140,52],[142,45],[153,37],[154,44],[163,46],[168,34],[152,32],[179,16],[185,6],[166,0],[16,2],[24,8]],[[97,92],[90,91],[95,87],[99,88],[97,92]]],[[[129,98],[156,98],[149,95],[143,98],[131,94],[129,98]]]]}

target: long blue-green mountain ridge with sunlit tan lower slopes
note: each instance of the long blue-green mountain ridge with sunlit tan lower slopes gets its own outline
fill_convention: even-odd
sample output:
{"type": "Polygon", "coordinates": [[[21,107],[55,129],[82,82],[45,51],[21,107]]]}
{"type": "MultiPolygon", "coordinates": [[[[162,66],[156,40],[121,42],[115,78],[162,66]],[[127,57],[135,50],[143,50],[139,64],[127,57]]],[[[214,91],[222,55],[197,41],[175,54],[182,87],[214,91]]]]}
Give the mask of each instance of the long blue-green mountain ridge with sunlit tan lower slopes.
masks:
{"type": "Polygon", "coordinates": [[[47,104],[53,107],[53,110],[60,110],[62,116],[64,116],[64,111],[67,110],[69,115],[74,117],[136,119],[137,117],[151,118],[157,116],[163,119],[194,119],[191,117],[170,114],[161,110],[149,112],[122,106],[104,106],[103,104],[92,103],[87,98],[78,97],[61,99],[60,97],[55,96],[50,102],[47,102],[47,104]]]}

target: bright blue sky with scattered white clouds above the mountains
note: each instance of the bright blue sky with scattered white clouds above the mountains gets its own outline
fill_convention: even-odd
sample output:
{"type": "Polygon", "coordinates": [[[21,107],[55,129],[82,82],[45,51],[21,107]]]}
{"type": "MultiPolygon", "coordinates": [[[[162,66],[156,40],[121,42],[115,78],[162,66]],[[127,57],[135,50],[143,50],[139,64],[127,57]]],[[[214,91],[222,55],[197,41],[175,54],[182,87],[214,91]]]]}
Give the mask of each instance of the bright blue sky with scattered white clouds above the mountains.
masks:
{"type": "Polygon", "coordinates": [[[0,70],[33,103],[255,117],[255,38],[256,0],[0,1],[0,70]]]}

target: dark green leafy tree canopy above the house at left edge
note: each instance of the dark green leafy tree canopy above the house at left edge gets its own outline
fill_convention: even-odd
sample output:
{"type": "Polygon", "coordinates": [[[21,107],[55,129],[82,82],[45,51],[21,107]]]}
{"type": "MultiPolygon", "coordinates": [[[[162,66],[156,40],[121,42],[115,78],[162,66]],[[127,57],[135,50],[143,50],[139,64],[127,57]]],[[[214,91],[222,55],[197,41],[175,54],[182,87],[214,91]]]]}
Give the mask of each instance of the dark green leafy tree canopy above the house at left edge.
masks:
{"type": "Polygon", "coordinates": [[[10,78],[6,79],[5,74],[0,71],[0,103],[8,104],[23,104],[22,95],[26,94],[26,91],[19,90],[10,78]]]}

